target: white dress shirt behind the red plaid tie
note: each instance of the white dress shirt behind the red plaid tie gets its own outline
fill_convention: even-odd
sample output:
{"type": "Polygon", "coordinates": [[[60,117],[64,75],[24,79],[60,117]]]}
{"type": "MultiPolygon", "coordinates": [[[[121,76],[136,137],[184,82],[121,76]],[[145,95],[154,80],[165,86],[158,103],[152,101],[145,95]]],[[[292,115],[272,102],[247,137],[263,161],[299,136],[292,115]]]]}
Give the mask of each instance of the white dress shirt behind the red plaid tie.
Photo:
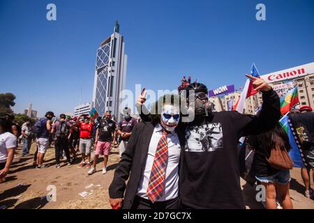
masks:
{"type": "MultiPolygon", "coordinates": [[[[154,128],[153,135],[151,136],[151,142],[149,144],[149,151],[145,162],[144,172],[142,173],[139,187],[137,188],[137,196],[144,199],[149,199],[147,196],[147,188],[149,185],[149,178],[151,176],[151,169],[153,167],[155,153],[158,146],[158,142],[162,137],[162,127],[157,124],[154,128]]],[[[176,132],[167,134],[168,142],[168,162],[165,169],[165,190],[163,197],[160,197],[157,201],[167,201],[178,197],[179,192],[179,160],[181,146],[179,137],[176,132]]]]}

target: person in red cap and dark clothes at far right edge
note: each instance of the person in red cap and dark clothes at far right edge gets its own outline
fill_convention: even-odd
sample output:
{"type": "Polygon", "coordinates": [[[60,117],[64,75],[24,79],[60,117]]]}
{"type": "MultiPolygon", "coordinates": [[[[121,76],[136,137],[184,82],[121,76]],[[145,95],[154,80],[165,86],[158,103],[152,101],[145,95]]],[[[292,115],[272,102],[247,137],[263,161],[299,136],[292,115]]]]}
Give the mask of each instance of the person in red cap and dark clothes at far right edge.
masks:
{"type": "MultiPolygon", "coordinates": [[[[301,167],[301,177],[305,185],[304,196],[308,199],[314,197],[313,190],[311,189],[311,169],[314,170],[314,113],[312,107],[304,105],[299,108],[299,114],[291,114],[291,119],[294,124],[301,123],[311,137],[311,146],[308,148],[301,148],[304,157],[303,167],[301,167]]],[[[313,171],[314,183],[314,171],[313,171]]]]}

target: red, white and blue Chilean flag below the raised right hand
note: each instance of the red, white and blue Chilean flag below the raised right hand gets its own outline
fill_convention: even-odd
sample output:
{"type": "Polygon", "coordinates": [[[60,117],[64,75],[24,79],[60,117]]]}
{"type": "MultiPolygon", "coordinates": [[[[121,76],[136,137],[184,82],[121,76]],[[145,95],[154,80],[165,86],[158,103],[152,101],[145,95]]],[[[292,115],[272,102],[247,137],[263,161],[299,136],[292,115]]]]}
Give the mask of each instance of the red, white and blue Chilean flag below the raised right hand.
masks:
{"type": "MultiPolygon", "coordinates": [[[[253,77],[260,78],[260,73],[258,72],[254,63],[253,63],[252,68],[251,68],[251,75],[253,77]]],[[[246,101],[246,98],[248,98],[252,95],[255,95],[255,93],[257,93],[257,92],[258,91],[254,91],[254,87],[253,87],[251,79],[247,79],[246,85],[244,86],[244,89],[241,93],[241,97],[237,101],[236,105],[234,105],[234,109],[239,113],[243,113],[244,102],[246,101]]]]}

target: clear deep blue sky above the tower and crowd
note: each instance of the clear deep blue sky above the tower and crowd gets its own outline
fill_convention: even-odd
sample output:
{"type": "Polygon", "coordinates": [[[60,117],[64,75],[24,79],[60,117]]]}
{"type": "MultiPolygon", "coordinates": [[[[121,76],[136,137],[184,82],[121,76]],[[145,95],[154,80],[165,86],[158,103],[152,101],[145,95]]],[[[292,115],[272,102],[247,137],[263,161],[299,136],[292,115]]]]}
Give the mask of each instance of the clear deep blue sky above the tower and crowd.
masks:
{"type": "Polygon", "coordinates": [[[183,75],[243,86],[261,74],[314,61],[314,1],[0,0],[0,92],[40,116],[91,101],[96,49],[119,20],[126,42],[126,89],[177,89],[183,75]],[[46,20],[55,3],[57,21],[46,20]],[[264,3],[266,21],[255,19],[264,3]],[[80,100],[82,89],[82,99],[80,100]]]}

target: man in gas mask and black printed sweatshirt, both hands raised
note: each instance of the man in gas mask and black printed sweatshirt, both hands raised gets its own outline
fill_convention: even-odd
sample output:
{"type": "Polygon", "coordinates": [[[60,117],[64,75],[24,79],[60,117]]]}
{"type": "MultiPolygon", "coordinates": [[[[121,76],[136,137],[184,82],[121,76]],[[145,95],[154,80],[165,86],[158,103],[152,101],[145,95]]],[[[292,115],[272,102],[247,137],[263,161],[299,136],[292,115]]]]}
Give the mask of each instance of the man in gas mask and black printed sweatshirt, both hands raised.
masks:
{"type": "MultiPolygon", "coordinates": [[[[187,86],[188,112],[195,117],[181,123],[185,146],[179,171],[181,208],[245,208],[241,193],[237,143],[240,137],[259,134],[274,128],[279,118],[280,100],[264,79],[246,75],[256,91],[262,92],[263,106],[258,116],[238,112],[212,112],[207,86],[193,83],[187,86]],[[193,91],[190,91],[193,90],[193,91]]],[[[137,100],[137,109],[144,121],[142,106],[145,97],[137,100]]],[[[147,114],[147,113],[146,113],[147,114]]]]}

